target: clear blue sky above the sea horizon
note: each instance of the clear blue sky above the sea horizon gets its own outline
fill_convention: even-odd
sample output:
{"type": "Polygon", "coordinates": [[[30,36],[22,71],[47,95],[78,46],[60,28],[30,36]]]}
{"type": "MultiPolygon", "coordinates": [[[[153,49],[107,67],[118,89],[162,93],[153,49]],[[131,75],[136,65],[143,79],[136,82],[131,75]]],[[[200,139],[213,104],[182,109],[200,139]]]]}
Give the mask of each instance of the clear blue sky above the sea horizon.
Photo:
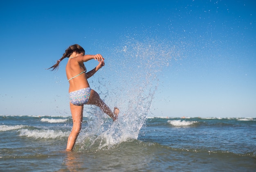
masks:
{"type": "Polygon", "coordinates": [[[0,4],[0,115],[70,116],[66,60],[45,69],[79,44],[106,58],[90,86],[123,113],[143,92],[148,116],[256,117],[254,0],[0,4]]]}

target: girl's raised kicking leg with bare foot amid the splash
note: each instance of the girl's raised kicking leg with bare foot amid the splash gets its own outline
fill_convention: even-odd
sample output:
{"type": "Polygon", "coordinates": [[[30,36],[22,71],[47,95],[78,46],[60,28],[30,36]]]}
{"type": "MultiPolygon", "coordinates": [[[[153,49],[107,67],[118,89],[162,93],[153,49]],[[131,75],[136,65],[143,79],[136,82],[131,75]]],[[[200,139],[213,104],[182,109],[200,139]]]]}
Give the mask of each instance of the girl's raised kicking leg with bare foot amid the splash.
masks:
{"type": "Polygon", "coordinates": [[[106,113],[108,116],[110,116],[113,121],[117,119],[117,116],[119,114],[119,109],[115,107],[114,113],[110,110],[108,105],[106,105],[101,98],[99,97],[99,94],[95,92],[93,89],[91,90],[90,98],[87,103],[88,105],[96,105],[98,106],[104,113],[106,113]]]}

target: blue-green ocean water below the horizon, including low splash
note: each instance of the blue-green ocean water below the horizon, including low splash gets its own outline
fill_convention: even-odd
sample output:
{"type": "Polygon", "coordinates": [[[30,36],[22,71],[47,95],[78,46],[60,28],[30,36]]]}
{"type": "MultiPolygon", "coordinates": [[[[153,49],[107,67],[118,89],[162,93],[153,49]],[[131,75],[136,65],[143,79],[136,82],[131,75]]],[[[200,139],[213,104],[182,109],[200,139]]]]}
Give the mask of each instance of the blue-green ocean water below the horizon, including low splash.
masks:
{"type": "Polygon", "coordinates": [[[256,118],[130,117],[84,117],[66,152],[70,116],[0,116],[0,171],[256,170],[256,118]]]}

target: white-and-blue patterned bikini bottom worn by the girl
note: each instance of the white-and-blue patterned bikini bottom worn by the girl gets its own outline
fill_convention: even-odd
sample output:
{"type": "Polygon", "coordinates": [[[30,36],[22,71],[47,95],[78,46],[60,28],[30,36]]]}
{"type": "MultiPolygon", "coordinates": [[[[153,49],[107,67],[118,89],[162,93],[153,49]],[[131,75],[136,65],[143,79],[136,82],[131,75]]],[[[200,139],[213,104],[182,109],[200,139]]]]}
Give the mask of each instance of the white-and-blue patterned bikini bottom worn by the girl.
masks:
{"type": "Polygon", "coordinates": [[[87,104],[90,98],[91,90],[92,89],[90,87],[87,87],[70,92],[70,103],[76,106],[87,104]]]}

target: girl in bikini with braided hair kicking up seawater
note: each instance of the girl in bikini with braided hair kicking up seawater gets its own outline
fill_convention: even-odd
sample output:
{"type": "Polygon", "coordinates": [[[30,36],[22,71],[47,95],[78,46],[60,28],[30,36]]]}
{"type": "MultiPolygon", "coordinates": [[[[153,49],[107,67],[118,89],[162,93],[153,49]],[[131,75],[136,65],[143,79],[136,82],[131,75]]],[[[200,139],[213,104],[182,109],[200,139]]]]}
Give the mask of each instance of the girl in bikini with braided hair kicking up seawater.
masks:
{"type": "Polygon", "coordinates": [[[58,69],[58,65],[64,58],[69,58],[66,66],[67,79],[70,83],[69,93],[70,93],[70,110],[73,119],[73,127],[70,136],[67,140],[67,149],[71,151],[76,142],[76,138],[81,131],[81,124],[83,121],[83,105],[96,105],[100,109],[108,114],[113,121],[117,120],[119,114],[119,109],[114,108],[114,112],[101,100],[99,94],[90,88],[88,83],[88,78],[95,74],[101,67],[105,65],[104,58],[101,54],[96,55],[85,55],[84,49],[80,45],[71,45],[66,49],[60,60],[50,67],[49,69],[58,69]],[[86,72],[84,62],[88,60],[98,60],[99,65],[97,65],[91,71],[86,72]]]}

